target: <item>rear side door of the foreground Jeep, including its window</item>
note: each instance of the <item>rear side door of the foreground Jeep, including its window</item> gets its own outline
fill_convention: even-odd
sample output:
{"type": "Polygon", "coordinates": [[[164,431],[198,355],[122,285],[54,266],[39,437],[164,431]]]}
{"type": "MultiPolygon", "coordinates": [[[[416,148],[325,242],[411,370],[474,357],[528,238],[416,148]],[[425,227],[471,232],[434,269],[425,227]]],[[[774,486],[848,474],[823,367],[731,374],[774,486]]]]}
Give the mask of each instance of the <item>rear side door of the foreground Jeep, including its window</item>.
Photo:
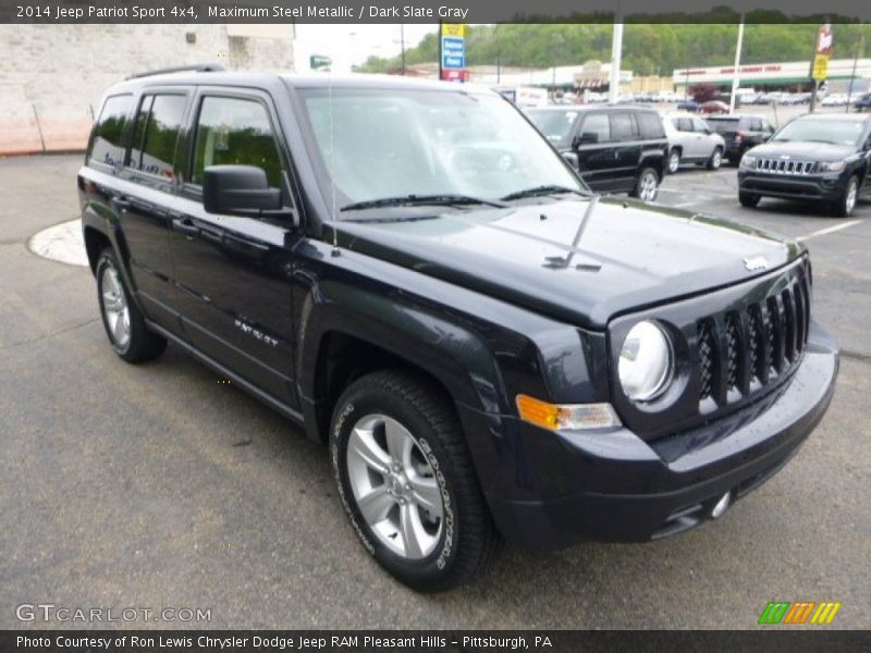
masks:
{"type": "Polygon", "coordinates": [[[130,269],[146,315],[179,333],[169,244],[169,205],[177,192],[176,156],[192,89],[147,89],[138,98],[124,182],[112,204],[130,251],[130,269]]]}

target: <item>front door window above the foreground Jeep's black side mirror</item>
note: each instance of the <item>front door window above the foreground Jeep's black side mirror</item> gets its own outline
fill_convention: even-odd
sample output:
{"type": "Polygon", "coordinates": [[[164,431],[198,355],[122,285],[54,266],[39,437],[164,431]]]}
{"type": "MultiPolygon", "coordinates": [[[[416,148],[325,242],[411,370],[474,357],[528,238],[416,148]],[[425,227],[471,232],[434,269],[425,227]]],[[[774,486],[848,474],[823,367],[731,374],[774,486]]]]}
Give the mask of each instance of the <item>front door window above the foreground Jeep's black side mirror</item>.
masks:
{"type": "Polygon", "coordinates": [[[257,100],[205,97],[197,118],[191,182],[203,185],[209,165],[256,165],[269,185],[281,187],[279,157],[269,113],[257,100]]]}

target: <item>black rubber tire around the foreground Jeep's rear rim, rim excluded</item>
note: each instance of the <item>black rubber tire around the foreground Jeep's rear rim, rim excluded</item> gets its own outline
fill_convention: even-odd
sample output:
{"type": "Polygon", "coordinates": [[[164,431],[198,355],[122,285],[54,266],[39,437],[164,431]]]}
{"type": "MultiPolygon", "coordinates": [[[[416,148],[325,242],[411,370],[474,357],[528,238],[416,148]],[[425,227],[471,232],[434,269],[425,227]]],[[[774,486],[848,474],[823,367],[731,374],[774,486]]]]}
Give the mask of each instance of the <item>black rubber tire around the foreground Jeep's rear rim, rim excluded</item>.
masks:
{"type": "Polygon", "coordinates": [[[160,356],[167,348],[167,338],[154,333],[146,325],[145,318],[133,301],[130,289],[124,283],[124,276],[121,274],[121,266],[119,266],[118,258],[111,247],[107,247],[100,252],[97,259],[96,276],[97,300],[100,304],[102,325],[106,329],[106,335],[109,336],[109,342],[112,344],[115,353],[127,362],[144,362],[160,356]],[[110,271],[114,271],[114,279],[118,280],[119,289],[123,294],[126,303],[130,324],[128,338],[126,342],[120,342],[109,325],[109,317],[105,303],[106,288],[103,286],[109,283],[107,274],[110,271]]]}

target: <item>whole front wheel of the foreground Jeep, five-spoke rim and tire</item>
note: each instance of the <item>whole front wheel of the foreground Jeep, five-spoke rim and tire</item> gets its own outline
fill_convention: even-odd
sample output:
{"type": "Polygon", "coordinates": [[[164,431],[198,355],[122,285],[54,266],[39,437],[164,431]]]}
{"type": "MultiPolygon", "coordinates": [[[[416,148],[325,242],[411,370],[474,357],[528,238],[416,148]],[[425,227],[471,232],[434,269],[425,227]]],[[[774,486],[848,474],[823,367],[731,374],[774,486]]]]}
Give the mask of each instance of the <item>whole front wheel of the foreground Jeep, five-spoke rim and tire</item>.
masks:
{"type": "Polygon", "coordinates": [[[441,591],[487,565],[498,535],[459,421],[421,379],[379,371],[348,386],[330,457],[354,531],[397,580],[441,591]]]}

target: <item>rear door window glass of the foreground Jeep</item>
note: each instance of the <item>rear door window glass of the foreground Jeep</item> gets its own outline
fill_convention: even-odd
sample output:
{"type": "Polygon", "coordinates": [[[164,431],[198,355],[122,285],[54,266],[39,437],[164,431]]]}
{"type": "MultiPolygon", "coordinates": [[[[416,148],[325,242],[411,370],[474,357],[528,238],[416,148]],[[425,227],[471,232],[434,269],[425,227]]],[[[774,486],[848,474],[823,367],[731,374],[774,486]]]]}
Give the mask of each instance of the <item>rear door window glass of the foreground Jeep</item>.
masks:
{"type": "Polygon", "coordinates": [[[184,108],[182,95],[149,95],[139,103],[128,165],[168,180],[174,178],[173,161],[184,108]]]}

